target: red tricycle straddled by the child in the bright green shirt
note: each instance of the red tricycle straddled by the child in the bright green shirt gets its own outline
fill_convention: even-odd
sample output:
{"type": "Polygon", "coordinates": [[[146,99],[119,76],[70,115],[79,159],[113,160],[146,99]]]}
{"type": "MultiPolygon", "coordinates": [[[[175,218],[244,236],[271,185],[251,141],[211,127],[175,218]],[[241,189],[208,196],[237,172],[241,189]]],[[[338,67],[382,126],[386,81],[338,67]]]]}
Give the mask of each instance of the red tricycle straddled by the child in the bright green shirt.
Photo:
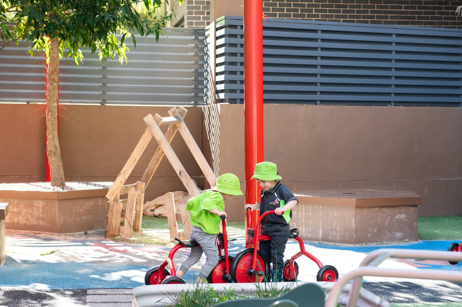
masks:
{"type": "MultiPolygon", "coordinates": [[[[228,256],[228,236],[226,235],[226,223],[225,215],[220,216],[223,225],[223,232],[219,233],[217,236],[217,246],[218,246],[218,255],[219,260],[217,266],[215,266],[207,277],[208,283],[232,283],[231,274],[230,274],[230,265],[233,257],[228,256]],[[224,250],[224,255],[222,255],[221,250],[224,250]]],[[[197,246],[195,241],[185,241],[175,238],[178,242],[171,250],[167,257],[160,264],[160,266],[154,266],[150,268],[145,275],[146,285],[150,284],[169,284],[169,283],[185,283],[184,280],[176,276],[175,266],[173,265],[173,256],[176,251],[180,248],[193,248],[197,246]],[[169,270],[165,267],[169,266],[169,270]],[[167,277],[169,276],[170,277],[167,277]]]]}

